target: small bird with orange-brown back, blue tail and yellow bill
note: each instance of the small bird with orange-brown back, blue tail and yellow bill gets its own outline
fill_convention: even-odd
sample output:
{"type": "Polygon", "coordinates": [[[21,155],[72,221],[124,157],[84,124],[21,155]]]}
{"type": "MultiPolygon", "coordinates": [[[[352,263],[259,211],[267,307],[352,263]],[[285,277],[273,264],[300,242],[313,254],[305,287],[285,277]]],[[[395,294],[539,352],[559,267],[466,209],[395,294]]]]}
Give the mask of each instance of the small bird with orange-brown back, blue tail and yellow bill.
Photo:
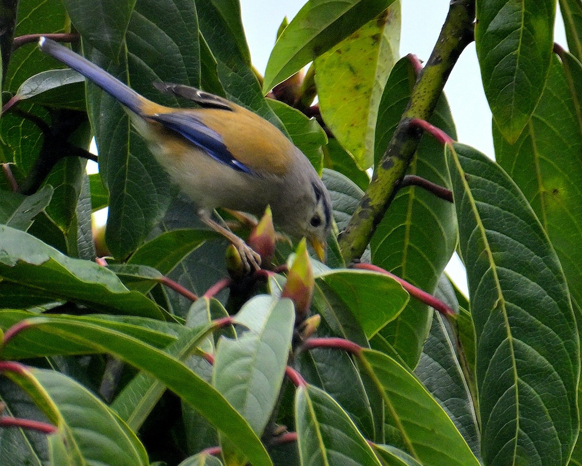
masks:
{"type": "Polygon", "coordinates": [[[51,39],[41,37],[38,47],[126,108],[158,163],[193,200],[201,220],[236,246],[247,269],[260,268],[260,256],[212,220],[213,209],[261,216],[270,205],[274,223],[295,238],[305,236],[324,259],[332,223],[328,190],[307,157],[274,125],[222,97],[180,84],[156,87],[200,108],[165,107],[51,39]]]}

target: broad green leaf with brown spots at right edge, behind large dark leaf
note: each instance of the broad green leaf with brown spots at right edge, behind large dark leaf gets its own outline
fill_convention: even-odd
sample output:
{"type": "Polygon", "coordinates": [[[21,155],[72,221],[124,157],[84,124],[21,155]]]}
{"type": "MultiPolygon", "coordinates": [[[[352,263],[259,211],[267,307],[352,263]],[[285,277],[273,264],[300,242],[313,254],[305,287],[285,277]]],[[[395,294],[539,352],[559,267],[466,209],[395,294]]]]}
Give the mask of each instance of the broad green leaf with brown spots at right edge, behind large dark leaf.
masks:
{"type": "Polygon", "coordinates": [[[494,142],[496,160],[533,207],[558,254],[570,292],[582,302],[582,166],[577,160],[582,133],[558,58],[517,142],[506,143],[496,127],[494,142]]]}

